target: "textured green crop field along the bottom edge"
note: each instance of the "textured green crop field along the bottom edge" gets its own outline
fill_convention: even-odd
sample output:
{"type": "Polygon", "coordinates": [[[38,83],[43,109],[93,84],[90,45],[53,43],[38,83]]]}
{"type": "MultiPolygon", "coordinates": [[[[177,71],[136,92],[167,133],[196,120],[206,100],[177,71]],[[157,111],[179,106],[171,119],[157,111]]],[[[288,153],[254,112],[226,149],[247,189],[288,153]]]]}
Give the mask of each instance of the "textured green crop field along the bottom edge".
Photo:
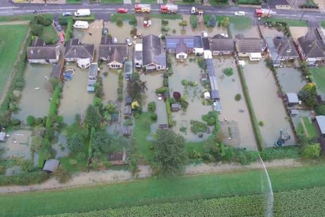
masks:
{"type": "MultiPolygon", "coordinates": [[[[305,189],[274,194],[274,216],[324,216],[325,188],[305,189]]],[[[65,213],[51,217],[88,216],[266,216],[265,195],[194,200],[176,203],[150,204],[91,211],[65,213]]],[[[47,217],[50,217],[47,216],[47,217]]]]}

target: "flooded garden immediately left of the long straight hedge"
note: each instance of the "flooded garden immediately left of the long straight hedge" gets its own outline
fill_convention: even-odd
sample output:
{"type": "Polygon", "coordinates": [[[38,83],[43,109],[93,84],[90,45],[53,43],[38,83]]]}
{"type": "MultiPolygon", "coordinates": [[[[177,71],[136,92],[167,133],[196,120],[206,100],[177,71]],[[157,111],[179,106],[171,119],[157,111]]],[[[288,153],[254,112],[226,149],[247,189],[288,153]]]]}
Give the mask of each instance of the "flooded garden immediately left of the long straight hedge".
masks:
{"type": "Polygon", "coordinates": [[[222,107],[222,113],[219,114],[219,120],[223,121],[224,118],[227,119],[227,122],[221,124],[221,129],[225,135],[224,142],[225,144],[234,145],[235,147],[256,150],[256,141],[245,99],[243,98],[240,79],[237,68],[232,64],[232,61],[232,57],[213,59],[222,107]],[[223,74],[223,69],[225,68],[232,68],[234,74],[232,76],[225,76],[223,74]],[[242,96],[240,101],[235,100],[237,94],[242,96]],[[229,129],[231,135],[229,135],[229,129]],[[232,137],[232,139],[229,140],[229,137],[232,137]]]}

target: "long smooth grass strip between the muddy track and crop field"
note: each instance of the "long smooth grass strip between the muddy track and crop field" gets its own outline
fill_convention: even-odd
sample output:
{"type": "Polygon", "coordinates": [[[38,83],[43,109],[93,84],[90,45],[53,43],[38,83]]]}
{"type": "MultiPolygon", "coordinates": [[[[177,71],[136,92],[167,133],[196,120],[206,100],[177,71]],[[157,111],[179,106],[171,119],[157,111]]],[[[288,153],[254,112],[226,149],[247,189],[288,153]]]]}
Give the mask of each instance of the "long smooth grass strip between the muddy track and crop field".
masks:
{"type": "MultiPolygon", "coordinates": [[[[325,187],[324,164],[270,169],[274,192],[325,187]]],[[[139,179],[64,190],[0,196],[1,216],[34,216],[137,206],[150,203],[261,194],[263,171],[249,170],[171,179],[139,179]]]]}

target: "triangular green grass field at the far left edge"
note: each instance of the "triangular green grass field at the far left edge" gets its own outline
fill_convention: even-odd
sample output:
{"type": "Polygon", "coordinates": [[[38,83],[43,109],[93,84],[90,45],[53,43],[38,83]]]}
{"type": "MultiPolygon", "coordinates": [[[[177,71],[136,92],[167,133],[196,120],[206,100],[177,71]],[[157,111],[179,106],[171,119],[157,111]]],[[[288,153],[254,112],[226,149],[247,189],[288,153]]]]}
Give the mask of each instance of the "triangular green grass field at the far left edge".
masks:
{"type": "Polygon", "coordinates": [[[12,73],[27,29],[27,25],[0,25],[0,95],[12,73]]]}

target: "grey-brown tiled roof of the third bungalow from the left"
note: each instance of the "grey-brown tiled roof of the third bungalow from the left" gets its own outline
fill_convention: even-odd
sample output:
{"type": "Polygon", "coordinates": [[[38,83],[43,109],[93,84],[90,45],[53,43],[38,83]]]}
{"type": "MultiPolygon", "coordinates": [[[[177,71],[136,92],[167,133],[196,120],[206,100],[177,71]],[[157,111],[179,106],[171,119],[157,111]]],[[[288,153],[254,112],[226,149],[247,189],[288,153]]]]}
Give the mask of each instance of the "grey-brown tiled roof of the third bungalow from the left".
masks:
{"type": "Polygon", "coordinates": [[[127,46],[126,44],[100,45],[99,57],[109,57],[110,62],[117,61],[118,63],[122,63],[127,58],[127,46]]]}

